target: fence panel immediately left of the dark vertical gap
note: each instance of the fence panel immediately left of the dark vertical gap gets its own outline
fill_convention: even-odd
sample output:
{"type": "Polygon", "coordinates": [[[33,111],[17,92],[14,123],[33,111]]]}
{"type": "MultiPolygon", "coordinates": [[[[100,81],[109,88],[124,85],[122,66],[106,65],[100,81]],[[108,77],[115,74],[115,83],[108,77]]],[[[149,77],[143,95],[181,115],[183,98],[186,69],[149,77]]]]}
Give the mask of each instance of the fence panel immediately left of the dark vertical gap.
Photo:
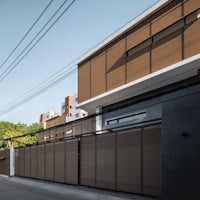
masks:
{"type": "Polygon", "coordinates": [[[66,141],[65,158],[65,182],[69,184],[78,184],[78,139],[66,141]]]}

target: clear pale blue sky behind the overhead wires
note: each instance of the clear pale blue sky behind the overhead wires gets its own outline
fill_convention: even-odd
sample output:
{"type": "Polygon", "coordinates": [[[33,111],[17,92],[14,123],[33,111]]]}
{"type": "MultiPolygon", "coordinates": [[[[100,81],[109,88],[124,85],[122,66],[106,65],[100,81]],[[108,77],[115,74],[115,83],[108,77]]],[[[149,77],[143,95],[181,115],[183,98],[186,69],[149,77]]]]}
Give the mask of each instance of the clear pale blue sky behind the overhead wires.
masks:
{"type": "MultiPolygon", "coordinates": [[[[0,1],[0,64],[15,48],[50,0],[0,1]]],[[[68,1],[68,4],[72,0],[68,1]]],[[[0,75],[50,16],[64,2],[54,0],[47,12],[0,69],[0,75]]],[[[0,81],[0,111],[46,78],[83,55],[158,0],[76,0],[19,65],[0,81]]],[[[66,5],[68,5],[66,4],[66,5]]],[[[38,122],[41,113],[59,111],[68,95],[77,93],[77,74],[8,113],[0,121],[38,122]]]]}

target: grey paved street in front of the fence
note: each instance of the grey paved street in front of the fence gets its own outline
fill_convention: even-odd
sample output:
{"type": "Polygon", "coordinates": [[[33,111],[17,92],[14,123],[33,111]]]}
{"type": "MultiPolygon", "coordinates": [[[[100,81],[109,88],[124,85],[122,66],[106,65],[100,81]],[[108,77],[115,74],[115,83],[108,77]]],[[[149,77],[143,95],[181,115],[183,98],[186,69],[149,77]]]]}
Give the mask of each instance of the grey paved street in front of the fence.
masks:
{"type": "Polygon", "coordinates": [[[71,186],[47,181],[0,176],[2,200],[152,200],[153,198],[105,191],[82,186],[71,186]]]}

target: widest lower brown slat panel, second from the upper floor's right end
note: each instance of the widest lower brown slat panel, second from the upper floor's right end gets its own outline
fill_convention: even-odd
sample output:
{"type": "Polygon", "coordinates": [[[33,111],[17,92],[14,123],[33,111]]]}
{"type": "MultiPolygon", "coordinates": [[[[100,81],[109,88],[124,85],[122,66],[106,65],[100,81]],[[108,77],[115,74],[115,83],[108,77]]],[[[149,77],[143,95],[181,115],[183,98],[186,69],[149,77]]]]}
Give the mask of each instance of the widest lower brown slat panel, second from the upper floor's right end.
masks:
{"type": "Polygon", "coordinates": [[[181,42],[181,36],[177,36],[152,50],[152,72],[181,61],[181,42]]]}

